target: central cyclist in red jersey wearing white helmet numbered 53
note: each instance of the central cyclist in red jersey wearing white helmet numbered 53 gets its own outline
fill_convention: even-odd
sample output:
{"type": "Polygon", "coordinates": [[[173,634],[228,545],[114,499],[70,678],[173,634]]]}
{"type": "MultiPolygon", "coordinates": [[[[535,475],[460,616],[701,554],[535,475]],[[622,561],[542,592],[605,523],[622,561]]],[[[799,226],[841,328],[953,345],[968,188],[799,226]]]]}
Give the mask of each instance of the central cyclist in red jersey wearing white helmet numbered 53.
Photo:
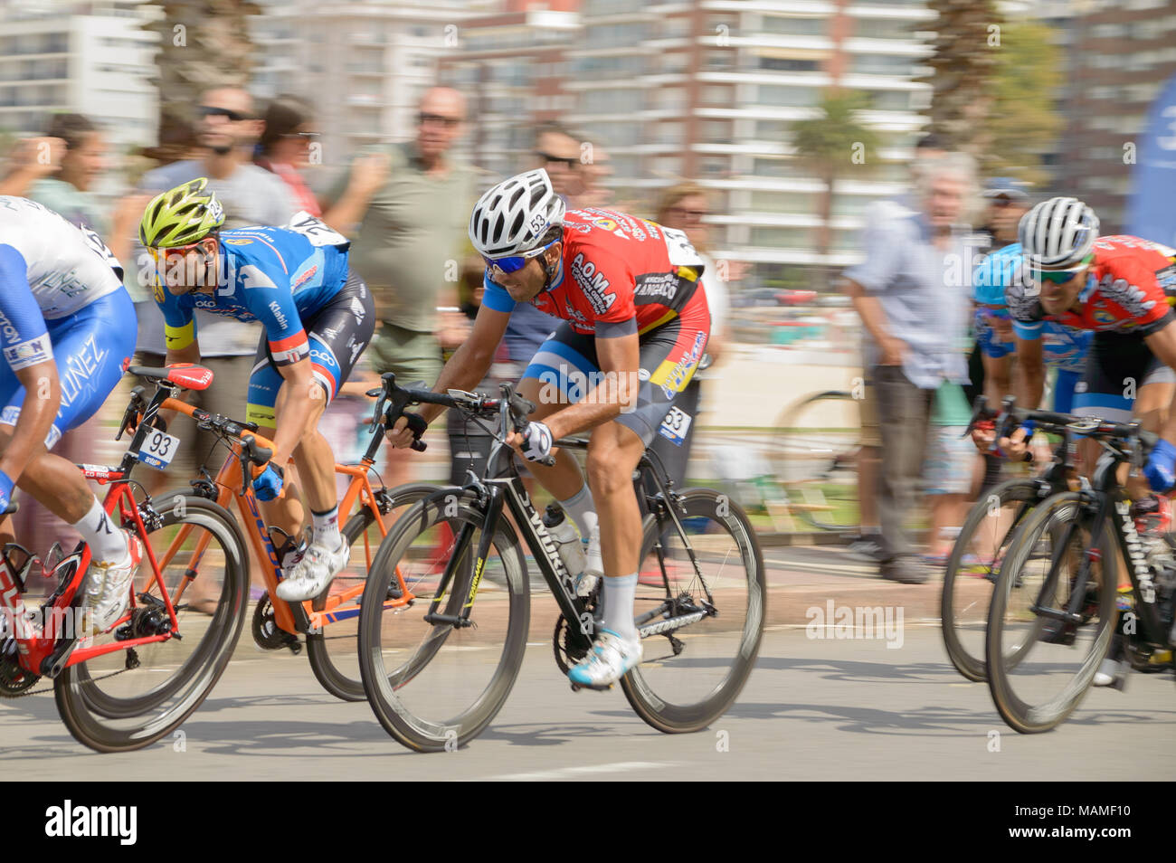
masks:
{"type": "MultiPolygon", "coordinates": [[[[482,380],[517,303],[562,319],[519,384],[537,409],[509,443],[580,527],[584,573],[606,576],[594,649],[568,677],[608,687],[641,661],[633,621],[641,510],[633,471],[655,434],[684,432],[664,421],[710,334],[702,261],[680,230],[609,209],[566,212],[542,169],[482,195],[469,236],[486,260],[486,293],[469,340],[434,392],[470,389],[482,380]],[[554,451],[553,467],[537,463],[553,454],[555,440],[588,429],[587,483],[566,451],[554,451]]],[[[429,422],[441,410],[426,404],[421,416],[429,422]]],[[[393,446],[412,443],[409,424],[397,420],[393,446]]]]}

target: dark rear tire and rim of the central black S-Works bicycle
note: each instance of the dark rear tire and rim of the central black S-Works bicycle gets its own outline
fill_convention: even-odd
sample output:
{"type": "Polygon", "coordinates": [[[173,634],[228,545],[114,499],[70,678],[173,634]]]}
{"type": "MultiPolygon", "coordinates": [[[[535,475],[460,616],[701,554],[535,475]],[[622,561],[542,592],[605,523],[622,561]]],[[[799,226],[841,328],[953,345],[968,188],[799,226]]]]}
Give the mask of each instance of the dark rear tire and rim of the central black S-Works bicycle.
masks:
{"type": "MultiPolygon", "coordinates": [[[[662,682],[660,680],[653,680],[652,669],[649,667],[646,667],[646,669],[642,670],[642,665],[637,665],[621,678],[621,690],[624,693],[624,697],[628,700],[634,711],[636,711],[637,716],[653,728],[656,728],[659,731],[663,731],[666,734],[688,734],[691,731],[699,731],[707,728],[730,708],[731,703],[739,697],[740,691],[742,691],[743,685],[747,683],[747,678],[751,674],[751,669],[755,667],[756,656],[759,655],[760,644],[763,638],[763,621],[767,615],[767,575],[763,567],[763,554],[760,549],[760,543],[755,537],[755,530],[751,528],[743,509],[727,495],[706,488],[691,488],[683,490],[681,493],[681,501],[684,513],[682,513],[680,517],[687,520],[700,517],[709,519],[713,523],[721,526],[721,528],[723,528],[724,531],[734,540],[735,546],[740,551],[741,562],[744,569],[743,578],[747,582],[747,608],[743,624],[737,636],[739,644],[735,650],[730,669],[719,683],[713,685],[706,697],[690,703],[673,701],[671,698],[674,696],[667,694],[666,687],[662,682]],[[662,691],[655,691],[656,689],[661,689],[662,691]]],[[[646,517],[641,543],[642,561],[648,558],[657,536],[667,530],[671,531],[674,536],[677,536],[676,528],[669,519],[663,516],[662,523],[659,524],[659,520],[655,515],[646,517]]],[[[702,543],[697,542],[697,538],[691,542],[691,546],[696,546],[696,554],[707,554],[706,548],[702,543]]],[[[662,563],[662,577],[669,582],[664,571],[664,563],[662,563]]],[[[719,591],[715,584],[720,578],[721,576],[716,576],[711,581],[711,588],[715,594],[719,591]]],[[[737,589],[739,577],[736,576],[731,578],[731,582],[734,583],[733,589],[737,589]]],[[[670,584],[667,595],[673,594],[679,586],[681,584],[670,584]]],[[[735,600],[735,602],[737,603],[739,600],[735,600]]],[[[704,617],[696,623],[675,630],[675,635],[682,634],[687,638],[699,636],[707,637],[710,635],[707,629],[709,625],[708,622],[716,622],[715,625],[724,625],[722,623],[723,609],[720,608],[720,598],[715,595],[715,606],[719,609],[719,615],[715,617],[704,617]]],[[[727,611],[730,613],[731,608],[728,607],[727,611]]],[[[652,638],[659,637],[662,636],[653,635],[647,638],[646,642],[648,643],[652,638]]],[[[726,638],[728,642],[730,641],[729,636],[721,637],[726,638]]],[[[681,653],[688,654],[689,651],[683,648],[681,653]]],[[[674,657],[670,658],[669,662],[664,663],[663,667],[671,664],[677,656],[679,654],[675,653],[674,657]]],[[[687,670],[688,663],[690,662],[697,662],[697,656],[688,656],[687,660],[683,661],[683,665],[686,665],[682,669],[683,671],[687,670]]],[[[703,662],[706,663],[707,661],[703,662]]],[[[659,675],[661,675],[661,671],[659,671],[659,675]]],[[[711,684],[708,682],[706,685],[711,684]]]]}

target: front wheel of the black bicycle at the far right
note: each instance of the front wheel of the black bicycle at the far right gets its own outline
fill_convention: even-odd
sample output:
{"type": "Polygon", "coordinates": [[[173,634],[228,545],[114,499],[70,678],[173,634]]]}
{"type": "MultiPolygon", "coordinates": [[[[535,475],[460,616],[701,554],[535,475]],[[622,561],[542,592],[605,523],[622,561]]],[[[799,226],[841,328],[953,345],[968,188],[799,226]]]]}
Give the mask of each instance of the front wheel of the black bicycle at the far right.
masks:
{"type": "Polygon", "coordinates": [[[993,591],[985,638],[988,687],[1001,717],[1022,734],[1056,727],[1085,696],[1115,633],[1117,544],[1110,523],[1089,549],[1082,499],[1064,493],[1038,504],[1009,548],[993,591]],[[1078,567],[1090,575],[1078,614],[1062,623],[1037,608],[1064,609],[1078,567]]]}

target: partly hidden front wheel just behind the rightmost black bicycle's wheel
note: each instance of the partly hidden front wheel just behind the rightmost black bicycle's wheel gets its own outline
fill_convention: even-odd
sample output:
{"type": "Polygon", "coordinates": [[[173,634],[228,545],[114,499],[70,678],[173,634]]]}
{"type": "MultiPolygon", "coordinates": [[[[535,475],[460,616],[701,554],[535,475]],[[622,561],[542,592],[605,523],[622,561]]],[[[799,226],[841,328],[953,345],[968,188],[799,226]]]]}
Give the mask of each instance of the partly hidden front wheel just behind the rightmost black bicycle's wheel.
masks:
{"type": "Polygon", "coordinates": [[[948,658],[970,681],[987,680],[984,630],[993,584],[1015,531],[1036,504],[1034,480],[1009,480],[976,501],[943,574],[940,618],[948,658]]]}

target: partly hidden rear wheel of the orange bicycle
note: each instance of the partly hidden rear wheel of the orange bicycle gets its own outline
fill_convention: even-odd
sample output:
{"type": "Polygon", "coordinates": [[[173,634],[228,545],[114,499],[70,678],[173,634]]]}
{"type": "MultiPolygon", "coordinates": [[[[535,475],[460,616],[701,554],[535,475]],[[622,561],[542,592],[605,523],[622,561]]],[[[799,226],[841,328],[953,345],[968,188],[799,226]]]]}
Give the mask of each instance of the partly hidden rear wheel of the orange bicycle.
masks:
{"type": "MultiPolygon", "coordinates": [[[[392,508],[383,515],[387,527],[394,524],[412,504],[437,490],[435,483],[410,482],[392,489],[392,508]]],[[[323,627],[322,631],[306,636],[306,655],[310,661],[310,670],[322,688],[343,701],[363,701],[363,681],[360,677],[360,661],[356,651],[359,644],[359,604],[362,590],[367,584],[372,563],[383,541],[383,533],[370,509],[363,508],[347,520],[343,526],[343,537],[352,547],[352,558],[330,584],[332,594],[354,594],[340,608],[339,620],[323,627]]],[[[325,598],[325,597],[323,597],[325,598]]],[[[315,601],[314,608],[321,610],[322,603],[315,601]]]]}

